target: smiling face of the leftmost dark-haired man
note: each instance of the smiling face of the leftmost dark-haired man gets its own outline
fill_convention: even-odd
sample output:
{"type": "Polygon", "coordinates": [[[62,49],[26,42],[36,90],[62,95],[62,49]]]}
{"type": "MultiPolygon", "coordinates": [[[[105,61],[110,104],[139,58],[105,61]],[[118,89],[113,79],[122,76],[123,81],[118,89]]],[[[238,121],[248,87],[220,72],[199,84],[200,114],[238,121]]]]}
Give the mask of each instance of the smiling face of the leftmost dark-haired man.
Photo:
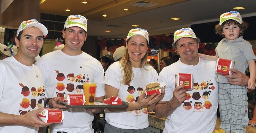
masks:
{"type": "Polygon", "coordinates": [[[20,41],[17,38],[15,38],[15,41],[17,47],[19,47],[19,52],[16,56],[24,58],[24,60],[34,61],[43,46],[43,33],[37,27],[29,27],[23,30],[20,35],[20,41]]]}

